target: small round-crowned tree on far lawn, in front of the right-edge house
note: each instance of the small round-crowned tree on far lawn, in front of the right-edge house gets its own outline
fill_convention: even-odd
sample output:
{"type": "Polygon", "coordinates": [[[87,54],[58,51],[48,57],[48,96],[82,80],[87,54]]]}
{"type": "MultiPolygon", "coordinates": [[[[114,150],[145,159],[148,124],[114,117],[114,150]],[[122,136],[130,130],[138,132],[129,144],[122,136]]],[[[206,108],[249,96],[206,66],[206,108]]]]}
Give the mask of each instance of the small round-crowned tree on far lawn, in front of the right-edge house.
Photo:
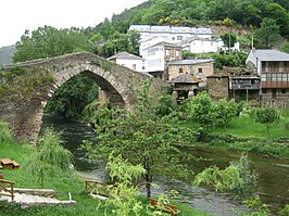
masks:
{"type": "Polygon", "coordinates": [[[261,123],[266,127],[266,131],[269,135],[269,129],[273,125],[278,124],[280,116],[274,107],[257,109],[254,113],[254,119],[256,123],[261,123]]]}

